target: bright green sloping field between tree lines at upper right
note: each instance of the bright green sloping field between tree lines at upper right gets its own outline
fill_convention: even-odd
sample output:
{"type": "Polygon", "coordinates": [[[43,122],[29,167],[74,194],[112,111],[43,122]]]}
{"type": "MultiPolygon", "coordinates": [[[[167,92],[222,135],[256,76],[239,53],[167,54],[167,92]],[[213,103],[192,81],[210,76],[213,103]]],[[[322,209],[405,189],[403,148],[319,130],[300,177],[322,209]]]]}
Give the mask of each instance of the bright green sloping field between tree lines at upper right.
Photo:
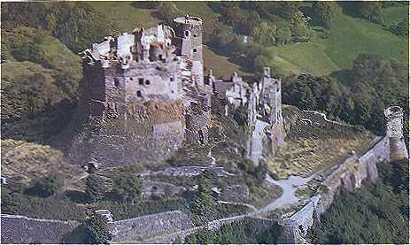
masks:
{"type": "Polygon", "coordinates": [[[407,62],[408,42],[365,19],[340,14],[329,39],[313,36],[313,42],[272,46],[267,52],[279,73],[329,75],[352,69],[353,60],[363,53],[407,62]]]}

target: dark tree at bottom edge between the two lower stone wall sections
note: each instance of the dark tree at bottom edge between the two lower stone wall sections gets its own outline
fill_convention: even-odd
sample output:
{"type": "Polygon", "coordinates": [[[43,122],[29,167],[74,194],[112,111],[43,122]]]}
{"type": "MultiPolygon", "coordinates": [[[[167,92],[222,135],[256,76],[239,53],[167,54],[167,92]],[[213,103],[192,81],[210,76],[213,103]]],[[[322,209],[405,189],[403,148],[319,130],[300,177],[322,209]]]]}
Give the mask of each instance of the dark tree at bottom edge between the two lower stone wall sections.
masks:
{"type": "Polygon", "coordinates": [[[112,234],[108,229],[108,221],[100,214],[95,214],[85,223],[87,238],[90,244],[108,244],[112,240],[112,234]]]}

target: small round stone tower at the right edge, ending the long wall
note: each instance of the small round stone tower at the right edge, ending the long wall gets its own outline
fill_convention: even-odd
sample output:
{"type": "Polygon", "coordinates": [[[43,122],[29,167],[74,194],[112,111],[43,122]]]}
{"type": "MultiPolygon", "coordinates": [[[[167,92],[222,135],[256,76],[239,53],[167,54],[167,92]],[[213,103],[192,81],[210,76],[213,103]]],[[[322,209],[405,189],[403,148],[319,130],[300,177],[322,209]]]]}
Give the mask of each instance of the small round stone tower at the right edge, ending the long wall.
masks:
{"type": "Polygon", "coordinates": [[[403,109],[391,106],[384,110],[384,116],[387,118],[386,135],[390,141],[391,161],[408,158],[403,137],[403,109]]]}

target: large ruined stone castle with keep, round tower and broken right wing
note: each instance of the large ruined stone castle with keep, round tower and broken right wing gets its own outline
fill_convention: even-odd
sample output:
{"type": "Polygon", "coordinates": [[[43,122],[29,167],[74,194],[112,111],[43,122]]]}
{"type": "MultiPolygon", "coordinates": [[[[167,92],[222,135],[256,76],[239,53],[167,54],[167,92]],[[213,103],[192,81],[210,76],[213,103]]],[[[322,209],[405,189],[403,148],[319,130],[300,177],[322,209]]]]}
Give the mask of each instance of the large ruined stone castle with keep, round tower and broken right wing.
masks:
{"type": "Polygon", "coordinates": [[[237,73],[225,81],[210,71],[204,79],[202,19],[186,15],[173,26],[107,36],[81,52],[81,110],[104,125],[91,136],[97,137],[92,144],[82,144],[89,136],[77,141],[74,148],[88,149],[81,157],[118,164],[151,154],[156,161],[183,141],[205,144],[214,96],[247,108],[250,125],[258,118],[267,121],[268,152],[274,154],[283,142],[280,80],[270,78],[269,68],[252,85],[237,73]]]}

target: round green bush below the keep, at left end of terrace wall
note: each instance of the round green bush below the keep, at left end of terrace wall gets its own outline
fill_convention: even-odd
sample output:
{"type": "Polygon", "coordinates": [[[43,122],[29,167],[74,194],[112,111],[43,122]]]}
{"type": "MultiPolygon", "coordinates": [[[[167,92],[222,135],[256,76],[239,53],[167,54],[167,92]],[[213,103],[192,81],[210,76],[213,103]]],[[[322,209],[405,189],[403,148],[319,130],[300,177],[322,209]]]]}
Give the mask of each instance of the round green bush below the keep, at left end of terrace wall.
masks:
{"type": "Polygon", "coordinates": [[[134,174],[123,175],[114,180],[112,193],[122,201],[130,200],[134,202],[141,195],[142,181],[134,174]]]}

